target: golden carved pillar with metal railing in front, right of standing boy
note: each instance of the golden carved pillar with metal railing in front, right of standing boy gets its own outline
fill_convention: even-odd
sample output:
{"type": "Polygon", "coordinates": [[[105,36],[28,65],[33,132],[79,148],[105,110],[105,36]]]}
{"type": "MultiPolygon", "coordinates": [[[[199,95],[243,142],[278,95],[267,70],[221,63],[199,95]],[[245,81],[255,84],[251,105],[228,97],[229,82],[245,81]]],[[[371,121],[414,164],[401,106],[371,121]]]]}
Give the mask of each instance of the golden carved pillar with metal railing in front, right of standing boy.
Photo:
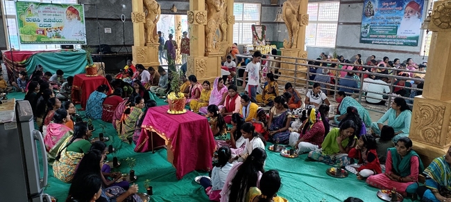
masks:
{"type": "MultiPolygon", "coordinates": [[[[296,58],[307,58],[307,51],[305,51],[305,28],[309,23],[309,15],[307,14],[307,0],[287,0],[283,3],[282,7],[282,17],[287,26],[289,39],[284,39],[284,48],[281,48],[282,56],[286,57],[296,57],[296,58]],[[295,13],[298,13],[296,15],[295,13]]],[[[296,62],[296,59],[284,59],[283,62],[296,62]]],[[[298,63],[305,63],[304,60],[297,60],[298,63]]],[[[280,68],[287,68],[296,71],[307,71],[306,66],[296,66],[294,64],[280,64],[280,68]]],[[[299,84],[300,80],[294,80],[295,73],[293,71],[280,70],[282,73],[282,80],[287,80],[289,82],[296,82],[299,84]],[[284,77],[287,75],[289,77],[284,77]]],[[[305,78],[305,73],[296,73],[296,77],[305,78]]]]}

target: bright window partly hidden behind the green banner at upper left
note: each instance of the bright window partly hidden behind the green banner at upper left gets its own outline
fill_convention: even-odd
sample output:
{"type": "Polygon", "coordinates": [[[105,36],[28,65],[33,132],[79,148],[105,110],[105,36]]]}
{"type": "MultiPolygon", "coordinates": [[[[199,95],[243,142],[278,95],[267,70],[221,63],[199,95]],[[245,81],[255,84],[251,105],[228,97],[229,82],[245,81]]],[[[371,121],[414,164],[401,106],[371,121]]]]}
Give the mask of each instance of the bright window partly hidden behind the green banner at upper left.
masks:
{"type": "MultiPolygon", "coordinates": [[[[27,0],[31,2],[41,3],[78,3],[77,0],[27,0]]],[[[4,27],[7,29],[6,46],[8,48],[15,48],[16,50],[58,50],[61,44],[20,44],[19,35],[17,31],[17,12],[14,1],[6,0],[1,1],[3,6],[3,16],[6,16],[6,24],[4,27]]],[[[81,48],[80,44],[74,44],[74,48],[81,48]]]]}

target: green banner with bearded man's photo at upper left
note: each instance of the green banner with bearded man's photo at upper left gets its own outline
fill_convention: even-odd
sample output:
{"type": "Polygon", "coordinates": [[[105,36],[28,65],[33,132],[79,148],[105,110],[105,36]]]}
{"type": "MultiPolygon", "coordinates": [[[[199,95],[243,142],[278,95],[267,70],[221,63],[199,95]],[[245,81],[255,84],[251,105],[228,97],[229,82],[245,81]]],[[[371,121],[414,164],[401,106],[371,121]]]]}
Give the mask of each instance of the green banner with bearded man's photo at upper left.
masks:
{"type": "Polygon", "coordinates": [[[84,44],[83,5],[16,2],[21,44],[84,44]]]}

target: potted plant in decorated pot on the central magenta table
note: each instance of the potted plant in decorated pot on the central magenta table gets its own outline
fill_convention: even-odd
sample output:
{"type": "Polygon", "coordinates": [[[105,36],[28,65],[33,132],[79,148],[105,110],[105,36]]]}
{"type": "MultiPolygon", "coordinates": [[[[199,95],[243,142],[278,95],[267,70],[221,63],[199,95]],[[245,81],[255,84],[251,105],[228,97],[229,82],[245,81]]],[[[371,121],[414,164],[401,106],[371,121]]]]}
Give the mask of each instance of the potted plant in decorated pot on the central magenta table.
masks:
{"type": "Polygon", "coordinates": [[[171,72],[171,93],[167,96],[170,113],[184,113],[187,98],[180,92],[180,81],[183,72],[179,70],[171,72]]]}

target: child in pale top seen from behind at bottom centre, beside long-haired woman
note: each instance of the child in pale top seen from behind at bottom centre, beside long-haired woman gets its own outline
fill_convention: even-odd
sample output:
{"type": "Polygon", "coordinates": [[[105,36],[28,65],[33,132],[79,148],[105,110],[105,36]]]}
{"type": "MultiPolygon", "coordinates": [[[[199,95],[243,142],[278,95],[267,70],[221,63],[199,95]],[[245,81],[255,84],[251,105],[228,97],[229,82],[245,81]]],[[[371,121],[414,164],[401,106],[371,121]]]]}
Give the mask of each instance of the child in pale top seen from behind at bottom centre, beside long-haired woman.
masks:
{"type": "Polygon", "coordinates": [[[229,147],[221,147],[218,149],[217,153],[218,163],[213,167],[212,179],[210,180],[209,178],[203,177],[200,180],[210,201],[219,201],[221,199],[221,190],[226,182],[227,175],[233,166],[229,163],[231,156],[229,147]]]}

